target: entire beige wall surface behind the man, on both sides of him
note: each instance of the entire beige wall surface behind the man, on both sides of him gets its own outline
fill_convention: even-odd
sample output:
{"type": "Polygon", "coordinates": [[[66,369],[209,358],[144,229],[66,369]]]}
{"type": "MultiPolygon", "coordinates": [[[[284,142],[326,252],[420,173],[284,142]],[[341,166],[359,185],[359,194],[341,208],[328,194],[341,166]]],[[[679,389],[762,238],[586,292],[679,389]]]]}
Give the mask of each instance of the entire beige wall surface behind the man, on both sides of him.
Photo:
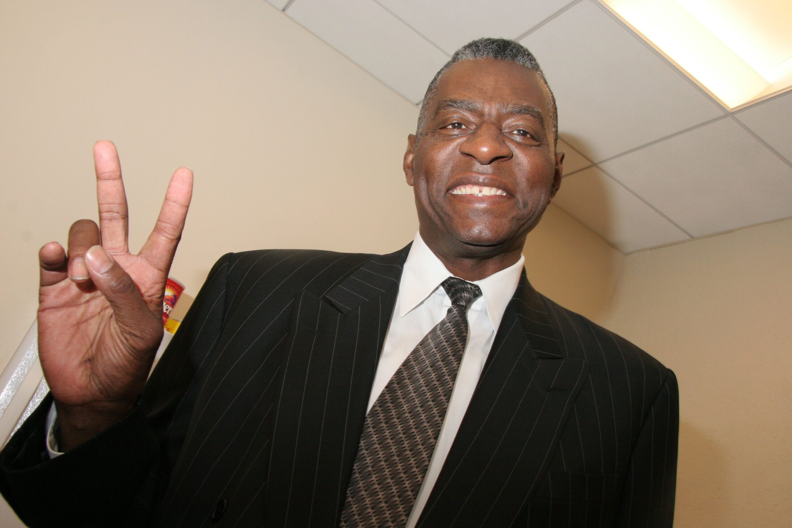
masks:
{"type": "MultiPolygon", "coordinates": [[[[96,217],[97,139],[119,146],[135,249],[195,170],[187,301],[227,251],[386,252],[417,229],[417,109],[263,0],[6,0],[0,74],[0,366],[35,317],[37,249],[96,217]]],[[[528,237],[539,291],[679,375],[677,526],[789,526],[790,247],[787,221],[623,256],[553,206],[528,237]]]]}

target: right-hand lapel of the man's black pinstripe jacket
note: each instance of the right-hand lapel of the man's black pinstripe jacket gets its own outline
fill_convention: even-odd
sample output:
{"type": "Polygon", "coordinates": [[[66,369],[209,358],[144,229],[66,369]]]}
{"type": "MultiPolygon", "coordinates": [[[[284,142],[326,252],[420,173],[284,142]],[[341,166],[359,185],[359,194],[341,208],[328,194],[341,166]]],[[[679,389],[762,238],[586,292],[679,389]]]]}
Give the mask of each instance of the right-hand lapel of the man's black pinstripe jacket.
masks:
{"type": "Polygon", "coordinates": [[[565,357],[523,272],[418,526],[511,526],[546,473],[587,371],[565,357]]]}

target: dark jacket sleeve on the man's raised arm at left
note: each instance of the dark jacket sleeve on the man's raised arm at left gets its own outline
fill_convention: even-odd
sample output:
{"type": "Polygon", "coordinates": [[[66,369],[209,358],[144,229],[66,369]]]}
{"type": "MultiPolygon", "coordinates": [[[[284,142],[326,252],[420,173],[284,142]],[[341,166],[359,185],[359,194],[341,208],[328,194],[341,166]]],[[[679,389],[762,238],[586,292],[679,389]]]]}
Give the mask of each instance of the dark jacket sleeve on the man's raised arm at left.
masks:
{"type": "Polygon", "coordinates": [[[195,366],[223,329],[230,254],[211,269],[138,405],[57,458],[45,444],[48,395],[0,452],[0,492],[28,526],[145,526],[181,447],[195,366]],[[178,411],[178,413],[177,413],[178,411]],[[126,513],[123,513],[126,512],[126,513]]]}

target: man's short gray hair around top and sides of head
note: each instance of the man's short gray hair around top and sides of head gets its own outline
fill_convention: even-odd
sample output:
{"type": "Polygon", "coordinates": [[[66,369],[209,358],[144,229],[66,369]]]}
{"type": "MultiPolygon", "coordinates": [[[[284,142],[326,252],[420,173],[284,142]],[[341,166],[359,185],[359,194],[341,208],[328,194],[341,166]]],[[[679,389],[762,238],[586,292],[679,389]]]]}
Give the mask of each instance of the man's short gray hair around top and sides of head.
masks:
{"type": "Polygon", "coordinates": [[[542,67],[536,62],[536,57],[528,51],[527,47],[508,39],[494,39],[483,38],[472,40],[460,47],[451,56],[451,60],[445,63],[445,66],[440,68],[435,78],[429,83],[424,96],[424,102],[421,104],[421,112],[418,114],[418,126],[416,128],[416,135],[418,140],[421,139],[421,127],[424,125],[427,108],[435,98],[437,93],[437,85],[440,83],[440,77],[444,74],[445,70],[451,67],[452,64],[459,63],[461,60],[475,60],[475,59],[495,59],[505,60],[509,63],[519,64],[525,66],[528,70],[535,72],[539,75],[539,79],[545,85],[547,94],[549,96],[548,111],[550,112],[550,121],[553,125],[553,143],[558,141],[558,108],[555,105],[555,97],[550,85],[547,84],[547,79],[544,76],[542,67]]]}

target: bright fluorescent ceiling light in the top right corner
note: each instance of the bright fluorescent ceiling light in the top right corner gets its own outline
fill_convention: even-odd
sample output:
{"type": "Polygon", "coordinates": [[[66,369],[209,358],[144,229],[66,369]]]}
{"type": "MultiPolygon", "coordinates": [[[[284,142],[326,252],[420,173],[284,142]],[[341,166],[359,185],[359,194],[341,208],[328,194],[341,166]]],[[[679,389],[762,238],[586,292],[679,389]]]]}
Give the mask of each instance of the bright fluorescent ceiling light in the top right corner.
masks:
{"type": "Polygon", "coordinates": [[[602,0],[729,108],[792,86],[790,0],[602,0]]]}

